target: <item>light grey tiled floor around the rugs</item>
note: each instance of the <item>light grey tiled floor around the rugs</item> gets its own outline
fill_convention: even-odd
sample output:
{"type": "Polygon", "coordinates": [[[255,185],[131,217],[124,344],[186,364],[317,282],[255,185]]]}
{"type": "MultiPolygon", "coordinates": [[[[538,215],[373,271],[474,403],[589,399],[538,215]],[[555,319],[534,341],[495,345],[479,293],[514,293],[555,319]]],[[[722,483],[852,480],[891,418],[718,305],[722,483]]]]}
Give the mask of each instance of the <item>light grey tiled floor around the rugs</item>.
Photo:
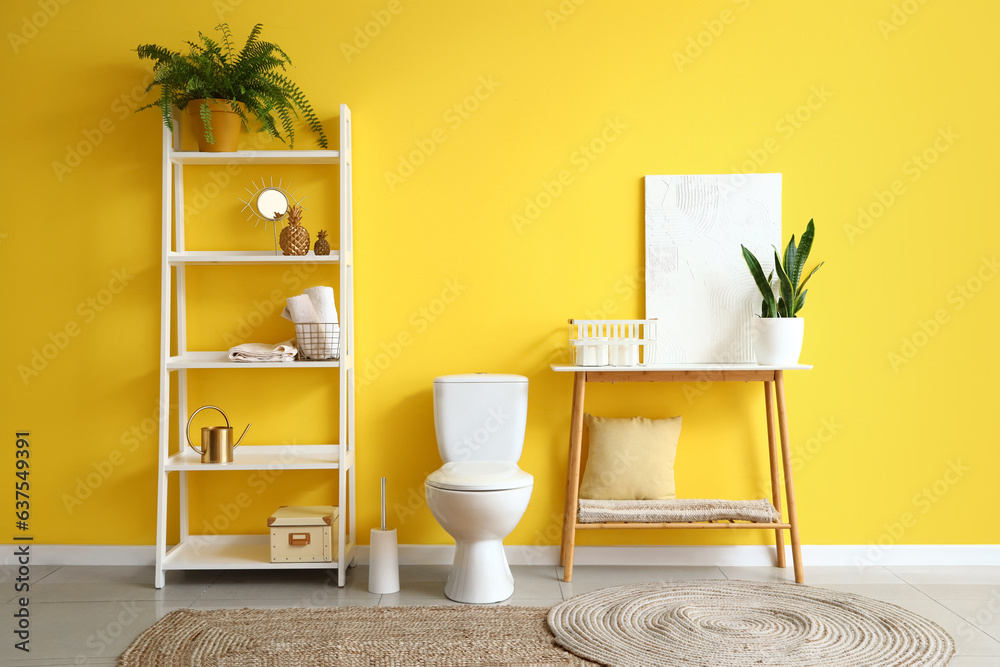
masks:
{"type": "MultiPolygon", "coordinates": [[[[577,566],[514,567],[504,604],[548,607],[573,595],[626,583],[678,579],[788,581],[791,568],[577,566]]],[[[143,629],[174,609],[455,604],[444,597],[446,566],[403,566],[399,593],[368,592],[368,572],[348,572],[337,588],[326,571],[171,572],[153,588],[151,567],[42,567],[31,570],[30,653],[14,648],[18,610],[13,567],[0,567],[0,664],[114,665],[143,629]]],[[[958,645],[953,667],[1000,666],[1000,567],[807,567],[806,582],[878,598],[929,618],[958,645]]]]}

